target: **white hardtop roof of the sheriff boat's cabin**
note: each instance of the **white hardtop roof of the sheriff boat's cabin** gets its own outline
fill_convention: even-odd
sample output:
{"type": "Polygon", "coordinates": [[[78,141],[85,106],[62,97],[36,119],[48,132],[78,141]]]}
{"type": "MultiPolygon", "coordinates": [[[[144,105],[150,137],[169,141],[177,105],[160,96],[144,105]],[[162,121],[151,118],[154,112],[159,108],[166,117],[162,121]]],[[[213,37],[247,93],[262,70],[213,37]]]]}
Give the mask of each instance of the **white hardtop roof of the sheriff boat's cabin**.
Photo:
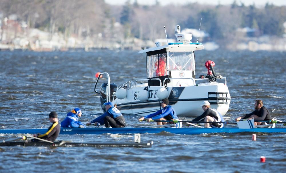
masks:
{"type": "Polygon", "coordinates": [[[168,45],[164,46],[157,46],[153,48],[148,48],[148,49],[143,49],[139,54],[145,53],[145,52],[151,52],[155,50],[162,50],[166,49],[166,51],[171,51],[171,52],[191,52],[191,51],[196,51],[196,50],[202,50],[204,49],[204,46],[202,43],[189,43],[189,44],[183,44],[183,43],[168,43],[168,45]]]}

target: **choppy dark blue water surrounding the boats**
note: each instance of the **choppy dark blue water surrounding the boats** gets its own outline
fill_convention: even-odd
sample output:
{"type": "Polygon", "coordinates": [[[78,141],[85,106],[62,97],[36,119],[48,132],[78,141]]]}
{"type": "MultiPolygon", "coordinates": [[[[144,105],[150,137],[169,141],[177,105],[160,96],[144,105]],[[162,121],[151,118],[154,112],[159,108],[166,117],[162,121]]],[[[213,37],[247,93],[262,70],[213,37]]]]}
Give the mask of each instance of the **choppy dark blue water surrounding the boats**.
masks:
{"type": "MultiPolygon", "coordinates": [[[[229,121],[253,110],[262,99],[273,117],[286,120],[285,52],[196,52],[196,74],[206,60],[227,77],[232,101],[229,121]]],[[[146,58],[137,52],[0,52],[0,128],[47,128],[47,115],[60,120],[74,107],[81,121],[101,113],[93,91],[96,72],[112,82],[146,78],[146,58]]],[[[136,123],[136,116],[125,116],[136,123]]],[[[183,119],[188,119],[184,117],[183,119]]],[[[0,139],[15,137],[0,134],[0,139]]],[[[60,135],[59,140],[132,141],[132,135],[60,135]]],[[[0,172],[285,172],[286,134],[142,134],[152,148],[1,147],[0,172]],[[260,163],[266,156],[266,163],[260,163]],[[51,165],[52,164],[52,165],[51,165]]]]}

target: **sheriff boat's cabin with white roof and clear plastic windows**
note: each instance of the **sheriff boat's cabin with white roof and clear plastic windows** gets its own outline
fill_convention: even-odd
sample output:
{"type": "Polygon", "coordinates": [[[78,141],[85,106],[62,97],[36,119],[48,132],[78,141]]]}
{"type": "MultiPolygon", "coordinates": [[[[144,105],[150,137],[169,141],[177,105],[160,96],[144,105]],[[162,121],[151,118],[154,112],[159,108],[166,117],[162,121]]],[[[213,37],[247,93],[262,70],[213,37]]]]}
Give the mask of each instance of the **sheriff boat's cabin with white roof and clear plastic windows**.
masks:
{"type": "Polygon", "coordinates": [[[154,79],[160,79],[163,86],[172,83],[170,80],[165,80],[166,78],[194,79],[196,77],[194,51],[203,48],[201,43],[168,43],[168,45],[141,50],[139,53],[147,53],[146,72],[147,79],[150,79],[148,85],[159,86],[160,82],[154,79]]]}

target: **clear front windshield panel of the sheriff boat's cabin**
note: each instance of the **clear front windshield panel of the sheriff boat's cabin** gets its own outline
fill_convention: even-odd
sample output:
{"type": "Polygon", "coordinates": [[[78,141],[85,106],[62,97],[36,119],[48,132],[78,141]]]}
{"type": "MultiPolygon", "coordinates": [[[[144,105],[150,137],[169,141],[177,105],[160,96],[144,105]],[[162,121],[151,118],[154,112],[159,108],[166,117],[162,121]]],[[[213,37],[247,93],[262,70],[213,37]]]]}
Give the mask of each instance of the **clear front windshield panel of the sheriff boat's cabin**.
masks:
{"type": "Polygon", "coordinates": [[[195,70],[194,52],[168,52],[167,70],[195,70]]]}

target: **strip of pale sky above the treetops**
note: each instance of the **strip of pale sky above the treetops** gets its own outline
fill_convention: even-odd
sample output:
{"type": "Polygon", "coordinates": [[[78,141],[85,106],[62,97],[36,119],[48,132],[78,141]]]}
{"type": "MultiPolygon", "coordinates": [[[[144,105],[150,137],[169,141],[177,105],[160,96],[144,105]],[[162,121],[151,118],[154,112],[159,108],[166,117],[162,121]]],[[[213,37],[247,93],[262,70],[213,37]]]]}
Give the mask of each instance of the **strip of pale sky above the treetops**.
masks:
{"type": "MultiPolygon", "coordinates": [[[[104,0],[106,3],[111,5],[122,5],[127,0],[104,0]]],[[[227,5],[233,3],[233,0],[158,0],[161,5],[167,5],[167,4],[179,4],[183,5],[185,3],[202,3],[202,4],[212,4],[212,5],[227,5]]],[[[131,3],[134,2],[134,0],[130,0],[131,3]]],[[[137,2],[140,5],[153,5],[155,4],[156,0],[137,0],[137,2]]],[[[263,6],[268,2],[270,4],[273,3],[273,5],[281,6],[286,5],[286,0],[237,0],[237,3],[240,4],[240,2],[244,3],[244,5],[252,5],[255,3],[257,6],[263,6]]]]}

